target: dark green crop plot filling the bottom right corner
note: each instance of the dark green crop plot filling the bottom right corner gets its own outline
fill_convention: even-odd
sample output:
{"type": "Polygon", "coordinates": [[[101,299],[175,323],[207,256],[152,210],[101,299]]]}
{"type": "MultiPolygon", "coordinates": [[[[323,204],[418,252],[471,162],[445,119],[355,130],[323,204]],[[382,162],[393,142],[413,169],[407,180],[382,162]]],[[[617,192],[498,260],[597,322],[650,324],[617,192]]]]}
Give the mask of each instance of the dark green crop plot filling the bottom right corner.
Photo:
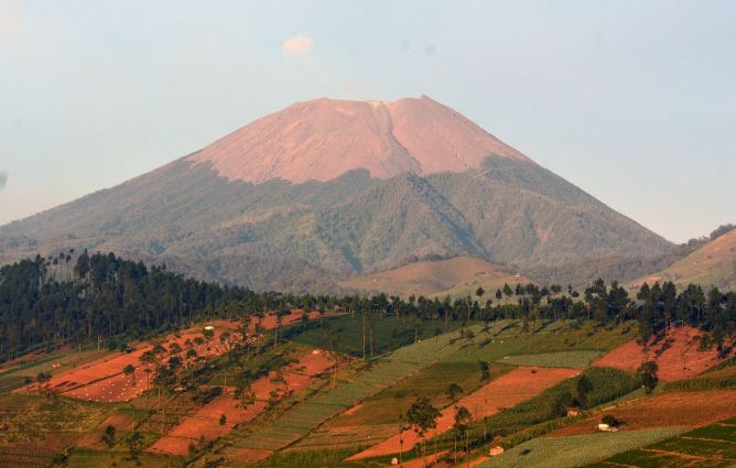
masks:
{"type": "Polygon", "coordinates": [[[595,468],[733,467],[736,465],[736,418],[723,421],[659,443],[627,450],[589,465],[595,468]]]}

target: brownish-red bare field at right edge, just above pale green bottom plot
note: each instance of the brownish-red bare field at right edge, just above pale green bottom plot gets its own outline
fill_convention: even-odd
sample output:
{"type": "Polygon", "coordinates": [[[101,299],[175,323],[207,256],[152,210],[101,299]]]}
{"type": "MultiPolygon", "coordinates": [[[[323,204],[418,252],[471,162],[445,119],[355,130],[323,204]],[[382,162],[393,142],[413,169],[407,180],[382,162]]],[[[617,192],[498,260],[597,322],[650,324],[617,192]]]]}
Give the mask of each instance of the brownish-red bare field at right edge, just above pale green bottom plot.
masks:
{"type": "Polygon", "coordinates": [[[607,414],[625,423],[625,431],[649,427],[700,427],[736,416],[736,390],[673,392],[626,402],[596,413],[571,426],[546,434],[550,437],[596,432],[607,414]]]}

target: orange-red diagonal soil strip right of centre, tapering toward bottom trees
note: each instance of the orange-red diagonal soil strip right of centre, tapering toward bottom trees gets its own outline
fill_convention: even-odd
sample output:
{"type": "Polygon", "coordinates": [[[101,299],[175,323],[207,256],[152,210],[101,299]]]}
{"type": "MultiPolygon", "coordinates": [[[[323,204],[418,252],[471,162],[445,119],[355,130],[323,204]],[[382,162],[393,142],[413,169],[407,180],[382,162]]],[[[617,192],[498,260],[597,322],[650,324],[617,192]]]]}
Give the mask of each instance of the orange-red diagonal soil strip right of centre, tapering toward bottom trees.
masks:
{"type": "MultiPolygon", "coordinates": [[[[437,418],[437,427],[429,431],[426,438],[429,439],[435,435],[443,434],[452,428],[455,416],[454,406],[456,405],[467,407],[473,418],[478,420],[498,413],[505,407],[511,407],[517,403],[524,402],[538,395],[543,390],[578,373],[580,369],[517,368],[446,407],[437,418]]],[[[349,457],[348,460],[397,454],[402,449],[404,451],[411,450],[420,440],[416,433],[405,431],[401,437],[399,434],[389,437],[349,457]],[[403,438],[403,447],[399,443],[400,438],[403,438]]]]}

